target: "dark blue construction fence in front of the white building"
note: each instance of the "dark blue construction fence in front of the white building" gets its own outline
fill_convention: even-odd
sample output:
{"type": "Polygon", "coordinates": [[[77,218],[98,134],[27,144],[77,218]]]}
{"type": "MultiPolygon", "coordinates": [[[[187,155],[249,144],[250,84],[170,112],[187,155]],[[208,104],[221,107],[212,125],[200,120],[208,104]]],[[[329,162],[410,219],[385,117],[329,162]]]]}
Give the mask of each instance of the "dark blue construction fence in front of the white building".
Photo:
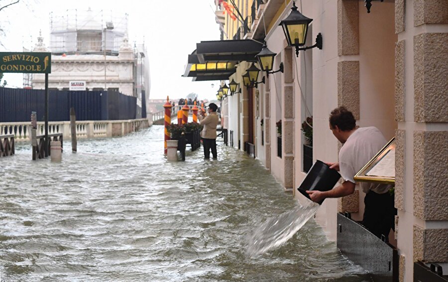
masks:
{"type": "MultiPolygon", "coordinates": [[[[44,121],[44,103],[44,90],[0,87],[0,122],[28,122],[31,112],[44,121]]],[[[133,120],[136,103],[136,97],[115,91],[49,91],[48,120],[70,121],[71,107],[77,121],[133,120]]]]}

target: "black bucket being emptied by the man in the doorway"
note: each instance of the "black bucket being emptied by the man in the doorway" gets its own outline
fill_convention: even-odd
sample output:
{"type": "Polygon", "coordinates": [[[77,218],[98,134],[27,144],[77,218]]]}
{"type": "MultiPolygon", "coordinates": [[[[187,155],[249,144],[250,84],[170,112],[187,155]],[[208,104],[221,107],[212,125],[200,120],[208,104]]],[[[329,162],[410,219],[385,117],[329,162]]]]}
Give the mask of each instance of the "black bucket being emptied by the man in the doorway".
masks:
{"type": "MultiPolygon", "coordinates": [[[[335,169],[330,168],[328,164],[320,160],[316,160],[297,190],[311,200],[310,195],[305,191],[329,191],[333,189],[339,178],[340,174],[335,169]]],[[[321,205],[322,202],[324,200],[318,202],[318,204],[321,205]]]]}

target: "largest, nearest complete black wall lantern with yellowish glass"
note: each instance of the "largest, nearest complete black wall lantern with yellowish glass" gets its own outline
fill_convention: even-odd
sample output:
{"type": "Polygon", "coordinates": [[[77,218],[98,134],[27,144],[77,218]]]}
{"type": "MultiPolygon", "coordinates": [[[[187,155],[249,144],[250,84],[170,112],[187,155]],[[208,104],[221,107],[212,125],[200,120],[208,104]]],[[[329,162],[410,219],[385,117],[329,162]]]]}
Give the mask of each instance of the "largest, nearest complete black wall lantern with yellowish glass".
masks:
{"type": "Polygon", "coordinates": [[[300,50],[307,50],[314,47],[318,47],[322,50],[322,34],[316,37],[316,44],[309,47],[300,48],[300,46],[305,45],[307,38],[308,25],[313,19],[304,16],[301,12],[297,10],[296,2],[293,1],[293,6],[291,7],[291,12],[280,24],[283,27],[283,32],[285,33],[286,40],[288,41],[288,46],[296,47],[296,56],[299,56],[300,50]]]}

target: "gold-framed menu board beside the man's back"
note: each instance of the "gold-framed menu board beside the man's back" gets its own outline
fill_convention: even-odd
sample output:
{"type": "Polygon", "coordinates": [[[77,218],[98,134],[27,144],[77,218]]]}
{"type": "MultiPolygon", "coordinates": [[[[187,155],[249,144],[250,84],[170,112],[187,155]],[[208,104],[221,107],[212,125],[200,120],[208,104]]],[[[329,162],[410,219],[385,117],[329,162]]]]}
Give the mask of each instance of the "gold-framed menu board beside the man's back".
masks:
{"type": "Polygon", "coordinates": [[[395,184],[395,137],[356,173],[355,181],[395,184]]]}

